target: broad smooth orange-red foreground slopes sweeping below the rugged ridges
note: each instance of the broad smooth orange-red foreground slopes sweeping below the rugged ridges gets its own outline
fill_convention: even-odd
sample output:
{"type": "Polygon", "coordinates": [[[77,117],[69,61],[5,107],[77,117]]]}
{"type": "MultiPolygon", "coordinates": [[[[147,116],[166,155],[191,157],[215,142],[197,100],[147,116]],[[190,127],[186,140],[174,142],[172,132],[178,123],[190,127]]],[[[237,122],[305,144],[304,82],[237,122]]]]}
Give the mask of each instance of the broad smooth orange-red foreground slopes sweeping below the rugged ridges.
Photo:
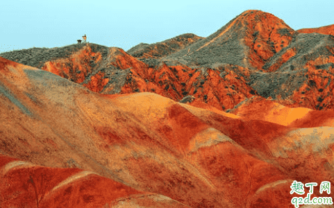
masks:
{"type": "MultiPolygon", "coordinates": [[[[37,199],[36,204],[47,206],[63,197],[71,202],[80,199],[85,207],[95,200],[110,205],[122,189],[130,191],[126,197],[144,194],[142,200],[126,198],[130,205],[167,196],[157,206],[292,207],[291,198],[298,197],[290,195],[293,180],[334,183],[331,127],[246,120],[149,92],[97,94],[48,71],[3,58],[0,71],[0,164],[15,166],[0,170],[6,180],[0,196],[6,196],[8,207],[24,203],[26,196],[33,199],[31,205],[37,199]],[[37,166],[11,164],[8,157],[37,166]],[[86,177],[84,172],[78,182],[67,184],[66,178],[81,173],[78,168],[97,176],[86,177]],[[56,176],[62,171],[68,177],[56,176]],[[41,181],[35,189],[28,181],[35,182],[42,173],[53,178],[52,186],[41,189],[41,181]],[[17,174],[22,180],[13,182],[17,174]],[[66,184],[57,189],[59,198],[49,196],[47,191],[59,183],[66,184]],[[116,191],[110,196],[101,183],[122,188],[108,189],[116,191]],[[73,191],[67,195],[69,189],[73,191]],[[87,192],[76,192],[80,189],[87,192]],[[160,196],[151,198],[148,192],[160,196]]],[[[333,197],[333,193],[333,186],[330,195],[320,195],[316,188],[313,196],[333,197]]]]}

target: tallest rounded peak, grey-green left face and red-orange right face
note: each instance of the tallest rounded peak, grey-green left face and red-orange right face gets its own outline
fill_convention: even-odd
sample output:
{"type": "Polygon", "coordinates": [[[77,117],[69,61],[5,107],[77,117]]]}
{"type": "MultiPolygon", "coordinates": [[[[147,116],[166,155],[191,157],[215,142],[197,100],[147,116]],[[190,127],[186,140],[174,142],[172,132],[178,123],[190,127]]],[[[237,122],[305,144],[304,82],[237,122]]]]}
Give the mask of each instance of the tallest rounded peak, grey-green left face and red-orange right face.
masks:
{"type": "Polygon", "coordinates": [[[194,65],[235,64],[260,70],[296,33],[282,19],[260,10],[247,10],[204,40],[170,55],[194,65]],[[208,54],[214,54],[210,55],[208,54]]]}

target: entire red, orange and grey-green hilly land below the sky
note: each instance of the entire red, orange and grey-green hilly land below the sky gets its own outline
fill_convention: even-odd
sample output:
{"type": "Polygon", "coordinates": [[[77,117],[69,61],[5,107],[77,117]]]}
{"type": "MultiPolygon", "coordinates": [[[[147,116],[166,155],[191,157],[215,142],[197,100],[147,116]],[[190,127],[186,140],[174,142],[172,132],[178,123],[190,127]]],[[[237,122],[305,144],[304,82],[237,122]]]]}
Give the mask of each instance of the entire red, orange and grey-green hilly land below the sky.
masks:
{"type": "Polygon", "coordinates": [[[331,34],[247,10],[205,38],[0,54],[0,207],[333,198],[331,34]]]}

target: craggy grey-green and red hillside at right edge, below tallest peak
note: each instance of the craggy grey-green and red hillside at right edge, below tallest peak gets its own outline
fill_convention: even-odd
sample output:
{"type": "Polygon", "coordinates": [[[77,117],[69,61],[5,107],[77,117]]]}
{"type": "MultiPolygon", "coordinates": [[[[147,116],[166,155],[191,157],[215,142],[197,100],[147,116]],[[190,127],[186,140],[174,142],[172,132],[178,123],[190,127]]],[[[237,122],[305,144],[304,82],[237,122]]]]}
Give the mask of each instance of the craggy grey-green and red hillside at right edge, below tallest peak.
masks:
{"type": "Polygon", "coordinates": [[[274,73],[255,73],[249,83],[260,95],[291,107],[333,108],[333,36],[299,34],[264,68],[274,73]]]}

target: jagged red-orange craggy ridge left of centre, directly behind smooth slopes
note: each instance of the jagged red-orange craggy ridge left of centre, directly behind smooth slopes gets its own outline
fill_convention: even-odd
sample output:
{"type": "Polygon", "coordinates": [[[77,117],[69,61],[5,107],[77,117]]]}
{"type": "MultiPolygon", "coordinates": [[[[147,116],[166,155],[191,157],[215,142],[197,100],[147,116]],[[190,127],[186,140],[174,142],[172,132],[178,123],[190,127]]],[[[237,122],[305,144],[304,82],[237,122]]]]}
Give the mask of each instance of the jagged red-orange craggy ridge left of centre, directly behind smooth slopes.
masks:
{"type": "MultiPolygon", "coordinates": [[[[162,61],[152,68],[122,49],[99,49],[94,44],[82,46],[68,57],[44,62],[40,68],[93,92],[154,92],[174,101],[191,94],[219,110],[232,108],[244,98],[256,94],[230,64],[212,69],[193,69],[180,62],[162,61]]],[[[242,67],[238,69],[247,71],[242,67]]]]}

